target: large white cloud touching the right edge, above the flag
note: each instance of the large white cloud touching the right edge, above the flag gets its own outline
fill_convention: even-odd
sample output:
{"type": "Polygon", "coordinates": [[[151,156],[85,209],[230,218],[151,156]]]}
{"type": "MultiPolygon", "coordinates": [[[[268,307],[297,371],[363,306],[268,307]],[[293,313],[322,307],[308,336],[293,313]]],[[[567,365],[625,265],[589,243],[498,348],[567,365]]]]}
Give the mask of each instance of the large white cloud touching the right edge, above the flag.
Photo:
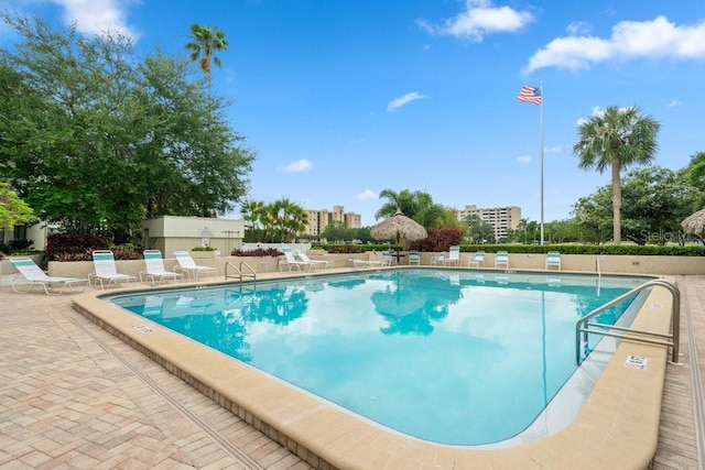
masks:
{"type": "Polygon", "coordinates": [[[657,17],[652,21],[621,21],[608,39],[557,37],[529,58],[524,72],[544,67],[588,69],[600,62],[634,58],[705,59],[705,22],[676,25],[657,17]]]}

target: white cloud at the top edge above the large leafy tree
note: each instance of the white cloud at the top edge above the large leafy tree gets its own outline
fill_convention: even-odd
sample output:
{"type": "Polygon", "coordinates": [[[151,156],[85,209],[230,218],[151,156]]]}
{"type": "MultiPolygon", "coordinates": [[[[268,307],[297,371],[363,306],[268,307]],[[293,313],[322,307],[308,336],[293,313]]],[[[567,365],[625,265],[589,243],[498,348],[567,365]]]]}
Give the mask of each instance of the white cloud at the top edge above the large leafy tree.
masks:
{"type": "Polygon", "coordinates": [[[137,40],[139,33],[126,21],[126,6],[134,1],[120,0],[50,0],[64,9],[63,20],[76,22],[79,32],[101,35],[107,31],[137,40]]]}

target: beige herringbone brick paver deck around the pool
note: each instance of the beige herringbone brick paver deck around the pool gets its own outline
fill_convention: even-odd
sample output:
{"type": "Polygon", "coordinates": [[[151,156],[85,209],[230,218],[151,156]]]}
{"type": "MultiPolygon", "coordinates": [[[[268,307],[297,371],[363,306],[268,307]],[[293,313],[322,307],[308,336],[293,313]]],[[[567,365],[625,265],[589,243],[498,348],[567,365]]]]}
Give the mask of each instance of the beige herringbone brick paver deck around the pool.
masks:
{"type": "MultiPolygon", "coordinates": [[[[665,367],[651,468],[702,470],[705,276],[675,281],[682,356],[680,364],[665,367]]],[[[310,468],[78,314],[74,295],[20,295],[0,287],[0,469],[310,468]]],[[[584,464],[608,468],[599,463],[605,461],[584,464]]]]}

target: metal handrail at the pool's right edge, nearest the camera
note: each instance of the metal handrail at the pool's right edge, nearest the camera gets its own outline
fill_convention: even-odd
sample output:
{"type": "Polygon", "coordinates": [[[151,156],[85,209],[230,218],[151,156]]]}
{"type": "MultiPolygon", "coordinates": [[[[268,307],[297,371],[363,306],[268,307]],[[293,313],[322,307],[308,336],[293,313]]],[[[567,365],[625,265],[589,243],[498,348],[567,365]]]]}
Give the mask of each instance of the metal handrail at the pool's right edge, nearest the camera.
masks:
{"type": "Polygon", "coordinates": [[[588,334],[594,334],[594,335],[603,335],[603,336],[608,336],[611,338],[621,338],[621,339],[628,339],[630,341],[637,341],[637,342],[643,342],[643,343],[648,343],[648,345],[660,345],[660,346],[669,346],[672,348],[672,353],[671,353],[671,361],[674,363],[677,363],[677,359],[679,359],[679,345],[680,345],[680,325],[681,325],[681,292],[677,289],[676,286],[674,286],[673,284],[663,281],[663,280],[651,280],[640,286],[637,286],[634,288],[632,288],[631,291],[629,291],[626,294],[620,295],[619,297],[615,298],[611,302],[608,302],[607,304],[597,307],[596,309],[594,309],[593,311],[590,311],[589,314],[587,314],[586,316],[584,316],[583,318],[581,318],[579,320],[577,320],[577,323],[575,324],[575,361],[577,362],[577,364],[581,364],[581,345],[583,341],[585,341],[585,343],[587,343],[587,338],[588,338],[588,334]],[[654,286],[661,286],[661,287],[665,287],[671,295],[673,296],[673,307],[672,307],[672,314],[671,314],[671,334],[660,334],[660,332],[655,332],[655,331],[646,331],[646,330],[638,330],[634,328],[625,328],[625,327],[618,327],[615,325],[606,325],[606,324],[598,324],[598,323],[590,323],[589,320],[593,319],[594,317],[596,317],[597,315],[601,314],[603,311],[607,310],[609,307],[612,307],[621,302],[623,302],[626,298],[631,297],[632,295],[636,295],[649,287],[654,287],[654,286]],[[601,327],[601,328],[606,328],[609,330],[618,330],[618,331],[625,331],[623,334],[621,332],[611,332],[611,331],[600,331],[600,330],[593,330],[589,329],[589,327],[601,327]],[[583,341],[581,341],[581,332],[583,334],[583,341]],[[651,338],[649,338],[651,337],[651,338]],[[652,339],[652,338],[665,338],[665,340],[663,339],[652,339]]]}

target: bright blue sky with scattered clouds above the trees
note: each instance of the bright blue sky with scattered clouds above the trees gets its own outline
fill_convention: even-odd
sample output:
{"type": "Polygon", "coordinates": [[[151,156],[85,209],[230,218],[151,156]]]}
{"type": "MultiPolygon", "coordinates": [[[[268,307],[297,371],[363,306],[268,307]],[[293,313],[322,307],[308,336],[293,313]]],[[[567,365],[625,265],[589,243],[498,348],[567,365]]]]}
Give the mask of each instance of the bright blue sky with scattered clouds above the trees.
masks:
{"type": "MultiPolygon", "coordinates": [[[[462,209],[519,206],[544,221],[609,184],[571,146],[607,106],[662,124],[654,164],[705,151],[705,2],[691,0],[1,0],[21,14],[119,30],[186,57],[192,23],[216,25],[214,90],[258,157],[250,199],[376,222],[382,189],[462,209]]],[[[4,28],[4,26],[2,26],[4,28]]],[[[11,40],[0,29],[0,41],[11,40]]],[[[194,73],[197,73],[194,66],[194,73]]],[[[235,214],[235,217],[238,215],[235,214]]]]}

